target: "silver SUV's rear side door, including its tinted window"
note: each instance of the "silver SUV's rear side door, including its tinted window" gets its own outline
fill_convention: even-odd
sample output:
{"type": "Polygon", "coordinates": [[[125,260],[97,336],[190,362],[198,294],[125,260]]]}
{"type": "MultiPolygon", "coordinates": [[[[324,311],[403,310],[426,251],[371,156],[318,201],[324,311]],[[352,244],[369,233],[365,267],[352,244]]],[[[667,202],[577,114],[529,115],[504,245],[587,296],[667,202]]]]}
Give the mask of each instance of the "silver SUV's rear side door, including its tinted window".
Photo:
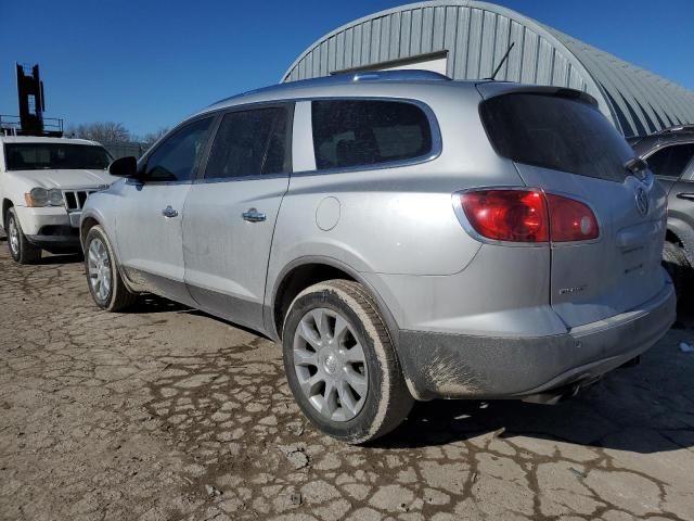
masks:
{"type": "Polygon", "coordinates": [[[226,113],[185,202],[185,282],[208,313],[262,329],[275,219],[290,179],[293,105],[226,113]]]}

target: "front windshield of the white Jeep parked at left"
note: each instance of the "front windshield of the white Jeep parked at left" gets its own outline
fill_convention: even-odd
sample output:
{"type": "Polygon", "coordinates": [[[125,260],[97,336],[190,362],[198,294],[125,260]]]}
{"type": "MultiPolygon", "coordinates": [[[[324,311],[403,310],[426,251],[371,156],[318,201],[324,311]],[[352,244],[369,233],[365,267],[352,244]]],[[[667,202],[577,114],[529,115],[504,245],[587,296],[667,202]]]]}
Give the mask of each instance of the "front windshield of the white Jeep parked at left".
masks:
{"type": "Polygon", "coordinates": [[[94,144],[5,143],[4,154],[8,170],[103,170],[111,163],[108,152],[94,144]]]}

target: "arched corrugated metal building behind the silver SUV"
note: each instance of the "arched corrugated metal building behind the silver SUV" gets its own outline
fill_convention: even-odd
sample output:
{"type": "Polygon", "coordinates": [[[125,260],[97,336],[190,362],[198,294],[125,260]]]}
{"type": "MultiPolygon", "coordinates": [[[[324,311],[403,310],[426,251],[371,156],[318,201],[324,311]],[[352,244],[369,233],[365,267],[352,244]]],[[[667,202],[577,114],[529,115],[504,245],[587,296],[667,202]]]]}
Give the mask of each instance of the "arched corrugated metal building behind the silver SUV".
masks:
{"type": "Polygon", "coordinates": [[[479,79],[491,76],[511,43],[497,79],[587,91],[627,137],[694,124],[694,91],[520,13],[475,0],[412,3],[351,22],[309,47],[282,81],[388,68],[479,79]]]}

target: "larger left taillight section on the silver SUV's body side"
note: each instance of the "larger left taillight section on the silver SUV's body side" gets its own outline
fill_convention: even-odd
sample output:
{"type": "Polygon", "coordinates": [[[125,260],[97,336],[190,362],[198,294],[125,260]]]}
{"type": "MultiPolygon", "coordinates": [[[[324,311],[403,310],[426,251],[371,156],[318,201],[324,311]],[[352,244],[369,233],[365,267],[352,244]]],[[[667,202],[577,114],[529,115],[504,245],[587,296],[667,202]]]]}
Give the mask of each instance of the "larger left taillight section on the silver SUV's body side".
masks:
{"type": "Polygon", "coordinates": [[[483,237],[511,242],[550,240],[547,203],[541,192],[480,190],[460,198],[467,220],[483,237]]]}

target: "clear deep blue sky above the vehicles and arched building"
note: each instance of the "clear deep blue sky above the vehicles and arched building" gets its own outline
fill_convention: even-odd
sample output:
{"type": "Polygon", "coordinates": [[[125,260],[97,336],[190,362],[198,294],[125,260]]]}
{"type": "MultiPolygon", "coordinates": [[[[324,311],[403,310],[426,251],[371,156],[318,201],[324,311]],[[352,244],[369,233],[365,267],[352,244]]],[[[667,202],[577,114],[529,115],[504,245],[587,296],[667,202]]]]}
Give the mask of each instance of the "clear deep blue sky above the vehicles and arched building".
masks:
{"type": "MultiPolygon", "coordinates": [[[[311,42],[387,0],[0,0],[0,113],[14,62],[40,63],[47,116],[142,135],[277,82],[311,42]]],[[[694,89],[693,0],[498,0],[694,89]]]]}

